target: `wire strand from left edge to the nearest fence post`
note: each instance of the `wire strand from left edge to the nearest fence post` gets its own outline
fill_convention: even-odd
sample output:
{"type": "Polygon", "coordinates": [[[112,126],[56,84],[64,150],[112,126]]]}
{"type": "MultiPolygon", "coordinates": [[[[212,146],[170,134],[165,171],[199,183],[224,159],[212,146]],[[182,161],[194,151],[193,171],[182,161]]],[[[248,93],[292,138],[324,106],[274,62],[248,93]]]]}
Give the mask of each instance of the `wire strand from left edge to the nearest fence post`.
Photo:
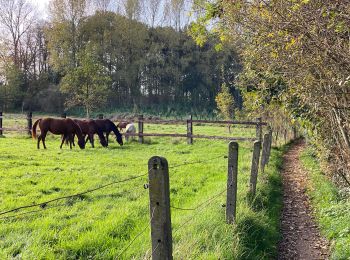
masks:
{"type": "Polygon", "coordinates": [[[109,186],[112,186],[112,185],[115,185],[115,184],[128,182],[128,181],[131,181],[131,180],[135,180],[135,179],[141,178],[143,176],[146,176],[147,174],[148,173],[137,175],[137,176],[133,176],[133,177],[130,177],[130,178],[127,178],[127,179],[124,179],[124,180],[120,180],[120,181],[110,182],[108,184],[104,184],[102,186],[99,186],[99,187],[96,187],[96,188],[93,188],[93,189],[89,189],[89,190],[86,190],[86,191],[83,191],[83,192],[79,192],[79,193],[76,193],[76,194],[72,194],[72,195],[68,195],[68,196],[58,197],[58,198],[55,198],[55,199],[52,199],[52,200],[48,200],[48,201],[44,201],[44,202],[41,202],[41,203],[35,203],[35,204],[30,204],[30,205],[25,205],[25,206],[13,208],[13,209],[10,209],[10,210],[7,210],[7,211],[0,212],[0,216],[8,214],[8,213],[11,213],[11,212],[15,212],[15,211],[18,211],[18,210],[21,210],[21,209],[26,209],[26,208],[34,208],[34,207],[38,207],[38,206],[41,207],[41,208],[45,208],[47,206],[47,204],[49,204],[49,203],[52,203],[52,202],[55,202],[55,201],[59,201],[59,200],[63,200],[63,199],[79,197],[79,196],[82,196],[84,194],[91,193],[91,192],[94,192],[94,191],[97,191],[97,190],[101,190],[101,189],[104,189],[106,187],[109,187],[109,186]]]}

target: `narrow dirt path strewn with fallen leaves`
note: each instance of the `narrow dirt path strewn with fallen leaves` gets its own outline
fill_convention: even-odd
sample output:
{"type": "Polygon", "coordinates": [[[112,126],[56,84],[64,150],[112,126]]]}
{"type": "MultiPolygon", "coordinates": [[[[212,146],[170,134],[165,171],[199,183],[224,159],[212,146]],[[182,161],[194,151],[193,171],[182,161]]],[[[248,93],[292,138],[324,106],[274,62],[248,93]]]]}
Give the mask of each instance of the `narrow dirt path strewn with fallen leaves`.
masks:
{"type": "Polygon", "coordinates": [[[304,143],[300,141],[284,156],[282,240],[278,245],[280,260],[328,259],[328,242],[320,235],[305,193],[307,173],[299,162],[303,148],[304,143]]]}

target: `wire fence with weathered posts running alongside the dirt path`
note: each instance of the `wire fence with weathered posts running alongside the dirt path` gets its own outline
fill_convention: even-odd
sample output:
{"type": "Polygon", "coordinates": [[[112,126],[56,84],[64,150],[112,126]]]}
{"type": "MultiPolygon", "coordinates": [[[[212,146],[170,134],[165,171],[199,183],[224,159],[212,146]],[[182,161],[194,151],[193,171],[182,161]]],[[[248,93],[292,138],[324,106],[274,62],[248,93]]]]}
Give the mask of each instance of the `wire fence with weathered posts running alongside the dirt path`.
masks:
{"type": "MultiPolygon", "coordinates": [[[[257,125],[257,126],[259,126],[259,127],[257,127],[257,135],[258,134],[261,135],[261,125],[257,125]]],[[[265,142],[270,142],[270,145],[268,143],[266,143],[267,146],[264,149],[264,153],[262,155],[264,157],[264,164],[266,161],[268,161],[268,157],[270,156],[270,154],[268,153],[268,150],[269,150],[268,147],[271,147],[272,140],[271,140],[271,138],[268,138],[269,136],[271,136],[271,135],[269,134],[266,137],[265,142]]],[[[187,137],[187,135],[186,135],[186,137],[187,137]]],[[[254,149],[253,158],[252,158],[252,171],[251,171],[250,183],[251,183],[251,190],[253,190],[255,192],[256,180],[257,180],[257,175],[258,175],[259,166],[260,166],[259,165],[260,150],[261,150],[260,141],[256,141],[254,143],[254,148],[255,149],[254,149]],[[252,188],[252,186],[253,186],[253,188],[252,188]]],[[[58,197],[58,198],[51,199],[51,200],[41,202],[41,203],[36,203],[36,204],[25,205],[25,206],[13,208],[11,210],[0,212],[0,216],[8,214],[10,212],[15,212],[15,211],[18,211],[21,209],[33,208],[33,207],[37,207],[37,206],[39,206],[41,209],[20,213],[20,214],[8,216],[5,218],[11,218],[11,217],[17,217],[20,215],[32,214],[32,213],[36,213],[39,211],[43,211],[45,209],[51,209],[51,208],[55,208],[55,207],[64,206],[65,204],[59,204],[59,205],[51,206],[51,207],[47,206],[47,205],[49,203],[52,203],[55,201],[60,201],[63,199],[68,199],[68,198],[73,198],[73,197],[79,197],[81,195],[91,193],[91,192],[94,192],[96,190],[100,190],[100,189],[106,188],[106,187],[114,185],[114,184],[119,184],[119,183],[131,181],[131,180],[135,180],[135,179],[144,177],[148,174],[148,178],[149,178],[148,187],[149,187],[149,195],[150,195],[150,220],[149,220],[149,223],[141,230],[141,232],[137,233],[137,235],[127,244],[126,247],[124,247],[121,250],[121,252],[117,256],[117,258],[122,256],[126,252],[126,250],[128,248],[130,248],[130,246],[136,241],[136,239],[138,239],[142,234],[144,234],[144,232],[146,232],[146,230],[148,229],[148,227],[150,225],[151,226],[151,240],[152,240],[152,252],[151,252],[150,257],[152,257],[154,260],[157,260],[157,259],[165,259],[167,256],[169,256],[170,257],[169,259],[171,259],[172,258],[172,235],[176,234],[184,226],[188,225],[191,221],[193,221],[195,216],[198,216],[202,210],[209,207],[217,198],[219,198],[221,195],[223,195],[225,192],[227,192],[229,188],[231,189],[232,184],[234,182],[236,182],[235,184],[237,184],[237,178],[232,178],[231,175],[234,174],[237,177],[238,171],[233,173],[234,170],[230,169],[230,167],[233,168],[233,167],[238,166],[236,164],[236,163],[238,163],[238,160],[234,159],[235,157],[238,158],[238,144],[237,143],[231,142],[229,144],[229,155],[230,156],[228,156],[228,157],[224,156],[224,155],[220,155],[220,156],[215,156],[215,157],[207,159],[207,160],[185,162],[182,164],[174,165],[172,167],[168,167],[168,162],[165,158],[152,157],[148,162],[148,169],[149,169],[148,173],[140,174],[137,176],[132,176],[130,178],[126,178],[126,179],[119,180],[119,181],[114,181],[114,182],[104,184],[102,186],[92,188],[92,189],[89,189],[89,190],[86,190],[83,192],[79,192],[79,193],[76,193],[73,195],[62,196],[62,197],[58,197]],[[234,151],[236,153],[235,156],[232,156],[232,153],[230,153],[233,151],[232,150],[233,146],[234,146],[234,151]],[[208,198],[207,200],[201,202],[200,204],[196,205],[193,208],[182,208],[182,207],[171,205],[170,192],[169,192],[169,168],[173,169],[173,168],[178,168],[180,166],[185,166],[185,165],[189,165],[189,164],[205,163],[205,162],[216,160],[219,158],[229,158],[227,183],[225,185],[226,187],[222,191],[213,195],[212,197],[208,198]],[[175,209],[175,210],[182,210],[182,211],[194,211],[194,214],[191,214],[176,229],[172,230],[170,208],[175,209]]],[[[237,191],[237,186],[235,187],[235,189],[237,191]]],[[[226,196],[227,196],[227,198],[229,196],[234,196],[234,193],[227,192],[226,196]]],[[[229,200],[227,199],[226,201],[229,201],[229,200]]],[[[226,207],[227,207],[227,205],[226,205],[226,207]]],[[[234,207],[236,207],[235,204],[234,204],[234,207]]],[[[235,210],[236,209],[234,209],[234,212],[235,212],[235,210]]],[[[226,212],[226,214],[227,214],[227,212],[226,212]]],[[[0,219],[4,219],[4,218],[0,218],[0,219]]],[[[234,223],[234,221],[235,221],[235,216],[233,216],[233,221],[229,221],[228,223],[231,224],[231,223],[234,223]]]]}

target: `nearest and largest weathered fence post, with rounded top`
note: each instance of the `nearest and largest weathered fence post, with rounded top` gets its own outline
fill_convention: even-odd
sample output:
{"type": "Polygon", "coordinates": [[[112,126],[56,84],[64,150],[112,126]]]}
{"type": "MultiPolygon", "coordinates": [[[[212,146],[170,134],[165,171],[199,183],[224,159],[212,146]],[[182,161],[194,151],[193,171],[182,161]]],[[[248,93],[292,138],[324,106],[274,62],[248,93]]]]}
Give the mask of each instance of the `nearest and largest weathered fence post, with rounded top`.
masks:
{"type": "Polygon", "coordinates": [[[173,259],[170,215],[169,168],[165,158],[148,161],[152,259],[173,259]]]}

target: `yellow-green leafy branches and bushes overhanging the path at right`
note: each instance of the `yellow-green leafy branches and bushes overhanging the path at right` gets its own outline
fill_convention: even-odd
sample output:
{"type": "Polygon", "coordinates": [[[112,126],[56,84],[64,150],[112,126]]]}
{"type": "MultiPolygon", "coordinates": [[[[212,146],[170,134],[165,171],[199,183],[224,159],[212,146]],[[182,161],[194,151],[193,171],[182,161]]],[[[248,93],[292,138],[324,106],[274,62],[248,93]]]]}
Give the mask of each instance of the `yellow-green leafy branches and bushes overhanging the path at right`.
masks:
{"type": "MultiPolygon", "coordinates": [[[[245,106],[280,106],[313,137],[323,159],[346,184],[350,178],[349,28],[347,2],[332,0],[205,1],[192,34],[202,28],[239,46],[245,106]],[[327,29],[325,29],[327,28],[327,29]],[[252,87],[251,87],[252,86],[252,87]],[[341,165],[341,167],[338,167],[341,165]],[[344,179],[345,178],[345,179],[344,179]]],[[[268,113],[268,112],[267,112],[268,113]]]]}

